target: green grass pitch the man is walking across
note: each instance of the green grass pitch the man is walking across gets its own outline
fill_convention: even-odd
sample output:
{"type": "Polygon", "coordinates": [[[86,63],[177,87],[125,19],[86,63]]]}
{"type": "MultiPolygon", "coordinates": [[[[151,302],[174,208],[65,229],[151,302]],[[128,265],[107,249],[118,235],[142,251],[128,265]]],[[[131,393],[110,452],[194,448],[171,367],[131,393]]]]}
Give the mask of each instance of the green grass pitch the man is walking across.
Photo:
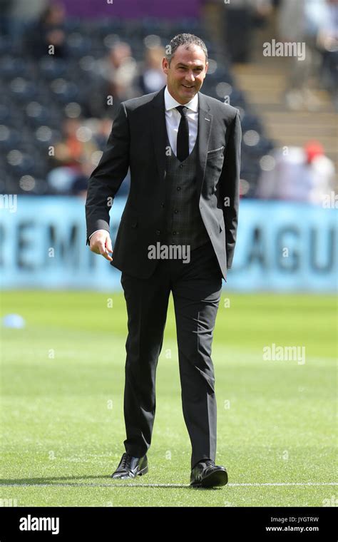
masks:
{"type": "Polygon", "coordinates": [[[171,298],[149,472],[130,481],[111,479],[126,439],[123,293],[4,292],[1,313],[26,320],[1,329],[2,503],[326,506],[338,498],[336,297],[223,290],[212,361],[216,463],[229,483],[209,490],[189,487],[171,298]],[[305,363],[263,359],[272,344],[305,347],[305,363]]]}

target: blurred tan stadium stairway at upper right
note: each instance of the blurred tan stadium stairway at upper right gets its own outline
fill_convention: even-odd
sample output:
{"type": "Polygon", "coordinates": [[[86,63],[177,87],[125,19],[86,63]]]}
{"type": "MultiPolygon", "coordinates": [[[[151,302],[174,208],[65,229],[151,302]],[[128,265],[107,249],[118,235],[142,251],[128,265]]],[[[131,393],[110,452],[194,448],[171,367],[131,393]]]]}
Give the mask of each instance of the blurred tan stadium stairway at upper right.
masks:
{"type": "Polygon", "coordinates": [[[299,108],[290,108],[285,99],[289,69],[290,58],[265,57],[259,46],[252,62],[232,65],[237,87],[250,102],[252,111],[262,118],[267,137],[277,146],[302,146],[310,139],[317,139],[338,171],[338,114],[331,96],[312,77],[308,81],[307,107],[301,104],[299,108]]]}

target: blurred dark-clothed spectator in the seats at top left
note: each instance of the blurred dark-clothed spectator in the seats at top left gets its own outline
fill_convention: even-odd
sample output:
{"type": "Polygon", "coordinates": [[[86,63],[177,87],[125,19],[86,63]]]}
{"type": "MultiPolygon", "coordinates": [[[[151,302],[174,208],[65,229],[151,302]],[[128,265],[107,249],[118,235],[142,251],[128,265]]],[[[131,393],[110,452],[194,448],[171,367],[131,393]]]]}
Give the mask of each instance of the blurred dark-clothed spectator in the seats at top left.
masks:
{"type": "Polygon", "coordinates": [[[68,50],[64,29],[65,10],[62,4],[49,4],[43,9],[39,20],[26,32],[26,45],[31,56],[39,59],[48,54],[66,58],[68,50]],[[53,53],[50,52],[53,46],[53,53]]]}

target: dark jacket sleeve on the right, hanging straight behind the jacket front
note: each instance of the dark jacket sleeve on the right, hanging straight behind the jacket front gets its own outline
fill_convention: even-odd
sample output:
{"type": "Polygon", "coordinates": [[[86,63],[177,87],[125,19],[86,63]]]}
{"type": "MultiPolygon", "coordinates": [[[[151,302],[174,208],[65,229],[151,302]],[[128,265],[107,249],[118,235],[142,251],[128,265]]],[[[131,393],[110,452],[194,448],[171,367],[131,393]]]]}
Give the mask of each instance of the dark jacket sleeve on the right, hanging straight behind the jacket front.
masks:
{"type": "Polygon", "coordinates": [[[232,265],[235,251],[238,208],[240,203],[240,145],[242,142],[240,111],[237,110],[229,130],[230,133],[227,139],[227,146],[225,147],[225,158],[221,173],[227,269],[230,269],[232,265]]]}

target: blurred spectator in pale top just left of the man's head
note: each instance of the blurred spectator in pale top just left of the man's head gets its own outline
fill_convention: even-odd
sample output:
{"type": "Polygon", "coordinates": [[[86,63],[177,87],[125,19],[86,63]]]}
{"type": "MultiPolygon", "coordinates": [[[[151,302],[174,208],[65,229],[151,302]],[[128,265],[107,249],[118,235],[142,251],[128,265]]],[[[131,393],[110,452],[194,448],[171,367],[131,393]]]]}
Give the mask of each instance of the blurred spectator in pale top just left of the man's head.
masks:
{"type": "Polygon", "coordinates": [[[162,58],[165,56],[164,47],[151,47],[145,49],[145,62],[139,66],[138,86],[143,94],[159,91],[167,78],[162,69],[162,58]]]}

